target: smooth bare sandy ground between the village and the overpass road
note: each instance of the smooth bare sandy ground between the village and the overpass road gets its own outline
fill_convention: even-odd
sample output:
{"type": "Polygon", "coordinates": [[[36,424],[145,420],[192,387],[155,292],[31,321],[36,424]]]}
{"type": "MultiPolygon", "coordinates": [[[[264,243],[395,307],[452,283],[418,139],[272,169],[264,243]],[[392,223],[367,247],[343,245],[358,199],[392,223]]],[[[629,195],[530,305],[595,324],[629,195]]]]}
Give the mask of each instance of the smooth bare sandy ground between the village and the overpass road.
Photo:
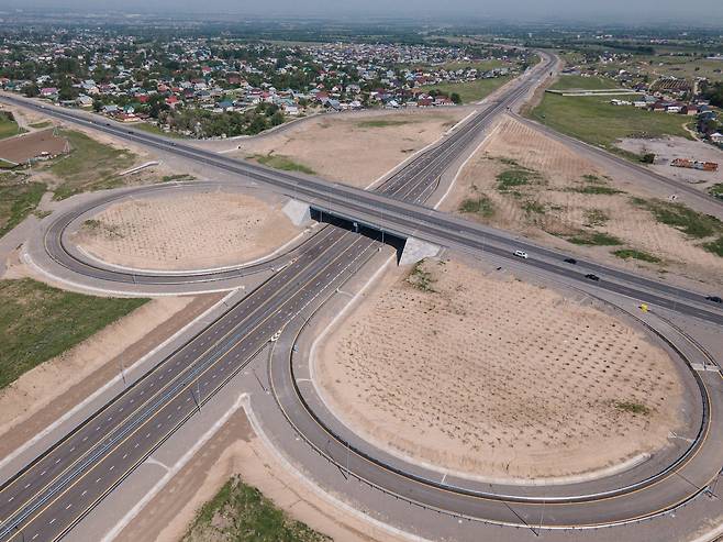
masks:
{"type": "Polygon", "coordinates": [[[320,117],[279,134],[240,142],[232,156],[274,153],[321,177],[366,187],[410,155],[436,141],[470,109],[421,110],[369,117],[320,117]],[[388,125],[369,125],[386,122],[388,125]]]}

